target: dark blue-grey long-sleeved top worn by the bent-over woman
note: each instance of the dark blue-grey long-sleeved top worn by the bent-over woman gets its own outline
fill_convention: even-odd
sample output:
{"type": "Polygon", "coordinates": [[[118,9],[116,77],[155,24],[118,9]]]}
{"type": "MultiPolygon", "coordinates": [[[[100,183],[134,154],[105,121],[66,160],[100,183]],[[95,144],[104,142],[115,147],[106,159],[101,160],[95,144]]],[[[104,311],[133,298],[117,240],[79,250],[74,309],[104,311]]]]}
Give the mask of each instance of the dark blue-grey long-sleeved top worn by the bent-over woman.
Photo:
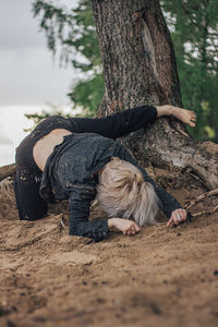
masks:
{"type": "Polygon", "coordinates": [[[40,195],[46,202],[69,199],[70,234],[100,241],[108,233],[107,219],[88,221],[89,207],[96,196],[98,172],[112,157],[136,166],[145,181],[150,182],[160,201],[160,208],[170,218],[181,205],[155,183],[118,142],[98,134],[64,136],[47,160],[40,183],[40,195]]]}

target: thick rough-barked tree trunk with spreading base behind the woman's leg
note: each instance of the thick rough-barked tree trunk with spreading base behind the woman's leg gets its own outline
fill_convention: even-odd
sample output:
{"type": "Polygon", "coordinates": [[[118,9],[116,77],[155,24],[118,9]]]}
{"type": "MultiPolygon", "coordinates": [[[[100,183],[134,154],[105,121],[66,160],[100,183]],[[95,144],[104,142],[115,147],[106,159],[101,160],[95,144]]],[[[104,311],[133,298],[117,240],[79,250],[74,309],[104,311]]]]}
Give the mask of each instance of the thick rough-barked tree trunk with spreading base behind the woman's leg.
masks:
{"type": "MultiPolygon", "coordinates": [[[[157,0],[92,0],[106,92],[99,116],[141,105],[182,106],[170,33],[157,0]]],[[[194,87],[194,85],[193,85],[194,87]]],[[[183,123],[158,119],[124,144],[146,166],[191,170],[218,185],[218,145],[196,142],[183,123]]]]}

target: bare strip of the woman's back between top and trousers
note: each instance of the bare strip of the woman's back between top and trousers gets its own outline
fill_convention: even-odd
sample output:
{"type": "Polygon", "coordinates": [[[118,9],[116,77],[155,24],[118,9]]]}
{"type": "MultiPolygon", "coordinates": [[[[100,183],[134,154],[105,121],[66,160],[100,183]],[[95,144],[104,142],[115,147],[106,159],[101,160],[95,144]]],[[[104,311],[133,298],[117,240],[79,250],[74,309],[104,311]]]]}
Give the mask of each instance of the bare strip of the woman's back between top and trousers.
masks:
{"type": "Polygon", "coordinates": [[[68,130],[57,129],[38,140],[33,149],[33,156],[38,168],[44,171],[46,161],[53,152],[56,145],[63,142],[63,136],[72,134],[68,130]]]}

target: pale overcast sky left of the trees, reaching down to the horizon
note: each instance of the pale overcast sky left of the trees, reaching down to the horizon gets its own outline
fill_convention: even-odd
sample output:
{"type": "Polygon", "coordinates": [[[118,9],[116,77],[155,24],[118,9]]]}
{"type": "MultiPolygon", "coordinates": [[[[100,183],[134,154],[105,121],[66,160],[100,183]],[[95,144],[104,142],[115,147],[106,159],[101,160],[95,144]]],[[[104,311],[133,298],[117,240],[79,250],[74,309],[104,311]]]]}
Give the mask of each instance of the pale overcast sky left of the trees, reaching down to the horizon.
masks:
{"type": "MultiPolygon", "coordinates": [[[[75,7],[78,0],[61,0],[75,7]]],[[[14,148],[25,136],[29,113],[46,104],[64,107],[77,78],[72,68],[60,68],[46,46],[32,13],[32,0],[0,0],[0,166],[14,161],[14,148]]]]}

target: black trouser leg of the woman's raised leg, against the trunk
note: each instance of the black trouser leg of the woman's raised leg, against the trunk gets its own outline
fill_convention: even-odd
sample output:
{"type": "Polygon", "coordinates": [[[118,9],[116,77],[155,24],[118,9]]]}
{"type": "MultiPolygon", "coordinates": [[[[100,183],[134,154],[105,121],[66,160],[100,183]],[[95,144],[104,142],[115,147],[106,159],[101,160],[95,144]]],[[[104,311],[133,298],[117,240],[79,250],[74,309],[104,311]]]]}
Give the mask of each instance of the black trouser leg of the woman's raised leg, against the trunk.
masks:
{"type": "Polygon", "coordinates": [[[124,136],[131,132],[146,128],[157,119],[157,109],[142,106],[124,110],[105,118],[69,118],[72,130],[77,133],[97,133],[113,138],[124,136]]]}

